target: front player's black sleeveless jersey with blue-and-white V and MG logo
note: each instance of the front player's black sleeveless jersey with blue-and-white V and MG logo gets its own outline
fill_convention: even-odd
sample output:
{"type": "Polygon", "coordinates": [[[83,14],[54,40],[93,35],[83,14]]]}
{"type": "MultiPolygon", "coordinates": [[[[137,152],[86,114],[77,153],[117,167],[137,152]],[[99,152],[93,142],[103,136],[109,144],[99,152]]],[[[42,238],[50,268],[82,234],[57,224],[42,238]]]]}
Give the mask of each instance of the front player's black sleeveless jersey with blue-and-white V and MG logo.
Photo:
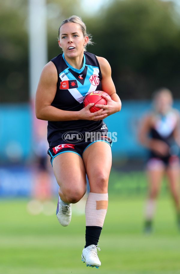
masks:
{"type": "MultiPolygon", "coordinates": [[[[95,90],[101,90],[102,74],[94,54],[84,52],[81,69],[75,69],[68,64],[64,59],[64,53],[51,61],[58,73],[57,90],[52,106],[66,111],[79,111],[83,108],[85,96],[95,90]]],[[[47,140],[49,146],[54,146],[58,144],[59,132],[81,131],[81,129],[91,131],[103,125],[103,120],[48,121],[47,140]]]]}

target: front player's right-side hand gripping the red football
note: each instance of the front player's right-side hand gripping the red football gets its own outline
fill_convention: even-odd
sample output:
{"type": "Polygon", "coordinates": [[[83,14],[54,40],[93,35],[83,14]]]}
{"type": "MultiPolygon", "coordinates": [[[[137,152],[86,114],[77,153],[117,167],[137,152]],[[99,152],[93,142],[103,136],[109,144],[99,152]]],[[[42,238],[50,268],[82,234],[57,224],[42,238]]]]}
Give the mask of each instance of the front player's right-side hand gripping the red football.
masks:
{"type": "Polygon", "coordinates": [[[115,102],[109,96],[104,94],[101,95],[107,101],[107,105],[98,105],[96,104],[95,107],[103,108],[104,110],[101,112],[101,115],[107,114],[107,116],[116,113],[119,111],[119,102],[115,102]]]}

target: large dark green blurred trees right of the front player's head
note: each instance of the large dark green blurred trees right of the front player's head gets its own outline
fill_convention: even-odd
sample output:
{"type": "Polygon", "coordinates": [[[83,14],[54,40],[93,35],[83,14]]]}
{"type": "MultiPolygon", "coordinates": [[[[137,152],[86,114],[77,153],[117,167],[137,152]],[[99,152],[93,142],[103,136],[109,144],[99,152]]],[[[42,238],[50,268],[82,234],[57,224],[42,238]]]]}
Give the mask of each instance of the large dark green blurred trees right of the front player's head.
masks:
{"type": "Polygon", "coordinates": [[[122,99],[149,99],[154,89],[167,86],[179,97],[180,26],[173,4],[160,0],[111,1],[87,21],[95,46],[104,56],[122,99]]]}

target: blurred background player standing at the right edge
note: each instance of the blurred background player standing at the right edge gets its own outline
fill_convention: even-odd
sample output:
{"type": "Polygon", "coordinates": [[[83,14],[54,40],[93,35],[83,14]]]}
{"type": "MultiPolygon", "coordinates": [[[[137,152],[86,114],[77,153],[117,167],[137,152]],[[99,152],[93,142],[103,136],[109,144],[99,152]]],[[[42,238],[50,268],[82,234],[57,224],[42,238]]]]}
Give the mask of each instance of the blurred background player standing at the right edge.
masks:
{"type": "Polygon", "coordinates": [[[149,181],[148,200],[145,210],[145,232],[152,231],[155,200],[165,174],[175,203],[178,226],[180,229],[180,131],[179,112],[172,108],[173,96],[167,88],[155,91],[153,111],[147,114],[139,130],[140,143],[149,150],[147,176],[149,181]]]}

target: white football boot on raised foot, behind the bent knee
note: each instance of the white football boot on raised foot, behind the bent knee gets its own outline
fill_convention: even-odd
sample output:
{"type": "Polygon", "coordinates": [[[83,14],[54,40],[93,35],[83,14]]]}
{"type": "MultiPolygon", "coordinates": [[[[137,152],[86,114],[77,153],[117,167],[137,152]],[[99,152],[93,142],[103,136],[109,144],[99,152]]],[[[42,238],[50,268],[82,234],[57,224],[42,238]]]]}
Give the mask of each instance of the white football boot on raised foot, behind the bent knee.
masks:
{"type": "Polygon", "coordinates": [[[58,205],[56,209],[56,217],[58,222],[63,226],[67,227],[70,224],[71,219],[71,205],[64,203],[58,195],[58,205]]]}

